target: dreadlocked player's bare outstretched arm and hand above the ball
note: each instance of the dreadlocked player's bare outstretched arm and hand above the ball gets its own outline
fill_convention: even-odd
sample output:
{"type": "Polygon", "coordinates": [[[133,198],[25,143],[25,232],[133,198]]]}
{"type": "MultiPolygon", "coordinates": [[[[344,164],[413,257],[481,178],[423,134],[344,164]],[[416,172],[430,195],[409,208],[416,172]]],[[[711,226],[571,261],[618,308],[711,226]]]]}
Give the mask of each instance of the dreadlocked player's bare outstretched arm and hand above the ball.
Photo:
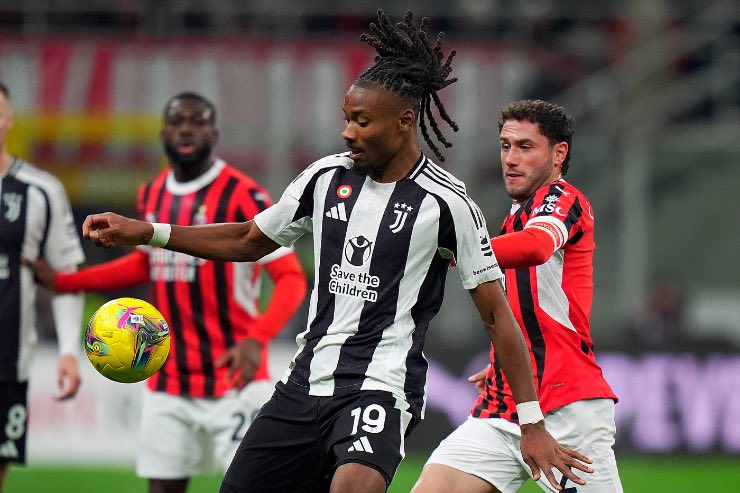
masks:
{"type": "MultiPolygon", "coordinates": [[[[171,228],[167,243],[158,246],[208,260],[254,262],[280,246],[254,221],[171,228]]],[[[153,234],[152,223],[112,212],[87,216],[82,224],[82,235],[105,248],[146,245],[153,234]]]]}

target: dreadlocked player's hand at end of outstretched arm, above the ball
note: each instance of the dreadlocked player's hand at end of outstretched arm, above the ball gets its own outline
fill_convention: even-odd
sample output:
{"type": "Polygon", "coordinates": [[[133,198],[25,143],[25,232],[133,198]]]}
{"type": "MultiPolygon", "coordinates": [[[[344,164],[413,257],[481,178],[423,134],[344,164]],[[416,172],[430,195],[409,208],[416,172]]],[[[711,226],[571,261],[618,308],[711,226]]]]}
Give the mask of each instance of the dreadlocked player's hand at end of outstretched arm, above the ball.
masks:
{"type": "Polygon", "coordinates": [[[130,219],[113,212],[92,214],[82,223],[82,236],[90,238],[97,246],[103,248],[145,245],[151,240],[152,234],[154,227],[151,223],[130,219]]]}

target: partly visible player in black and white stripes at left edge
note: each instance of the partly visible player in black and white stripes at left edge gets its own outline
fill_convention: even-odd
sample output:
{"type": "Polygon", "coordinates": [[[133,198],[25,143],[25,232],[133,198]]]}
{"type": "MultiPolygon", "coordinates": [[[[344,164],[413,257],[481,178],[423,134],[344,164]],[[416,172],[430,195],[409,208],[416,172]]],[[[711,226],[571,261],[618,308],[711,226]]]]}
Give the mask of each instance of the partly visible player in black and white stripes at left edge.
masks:
{"type": "MultiPolygon", "coordinates": [[[[8,464],[26,461],[27,390],[36,343],[36,284],[24,259],[41,256],[72,271],[85,260],[67,194],[54,176],[11,156],[13,126],[7,86],[0,83],[0,491],[8,464]]],[[[77,394],[81,295],[52,299],[59,343],[58,399],[77,394]]]]}

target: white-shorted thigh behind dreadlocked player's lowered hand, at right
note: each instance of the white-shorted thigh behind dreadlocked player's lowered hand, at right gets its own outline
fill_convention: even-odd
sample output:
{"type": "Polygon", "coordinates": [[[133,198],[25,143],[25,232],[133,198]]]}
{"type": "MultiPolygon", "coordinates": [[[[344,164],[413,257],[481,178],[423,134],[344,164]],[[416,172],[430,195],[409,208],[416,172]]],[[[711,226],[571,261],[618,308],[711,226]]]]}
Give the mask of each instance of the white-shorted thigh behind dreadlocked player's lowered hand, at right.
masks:
{"type": "MultiPolygon", "coordinates": [[[[614,456],[614,402],[610,399],[588,399],[576,401],[548,413],[545,425],[550,434],[564,447],[577,450],[593,460],[594,472],[587,474],[575,471],[586,480],[586,485],[576,486],[563,480],[558,471],[553,471],[564,491],[577,488],[579,493],[621,493],[617,461],[614,456]]],[[[547,481],[540,480],[538,486],[545,491],[555,491],[547,481]]]]}

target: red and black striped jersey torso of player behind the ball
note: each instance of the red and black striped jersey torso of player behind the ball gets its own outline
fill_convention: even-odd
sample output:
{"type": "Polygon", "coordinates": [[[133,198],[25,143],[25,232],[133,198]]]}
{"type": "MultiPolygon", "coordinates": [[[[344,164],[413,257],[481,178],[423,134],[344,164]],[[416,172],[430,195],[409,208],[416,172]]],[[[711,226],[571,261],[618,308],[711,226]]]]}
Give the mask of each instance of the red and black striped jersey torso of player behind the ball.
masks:
{"type": "MultiPolygon", "coordinates": [[[[270,205],[267,192],[218,160],[203,175],[177,182],[163,171],[139,189],[141,219],[180,226],[251,220],[270,205]]],[[[152,390],[191,397],[218,397],[229,390],[228,365],[215,368],[224,351],[250,333],[260,315],[260,270],[288,249],[258,263],[215,262],[161,248],[149,254],[151,301],[172,328],[170,354],[148,380],[152,390]]],[[[267,379],[267,352],[256,379],[267,379]]]]}

